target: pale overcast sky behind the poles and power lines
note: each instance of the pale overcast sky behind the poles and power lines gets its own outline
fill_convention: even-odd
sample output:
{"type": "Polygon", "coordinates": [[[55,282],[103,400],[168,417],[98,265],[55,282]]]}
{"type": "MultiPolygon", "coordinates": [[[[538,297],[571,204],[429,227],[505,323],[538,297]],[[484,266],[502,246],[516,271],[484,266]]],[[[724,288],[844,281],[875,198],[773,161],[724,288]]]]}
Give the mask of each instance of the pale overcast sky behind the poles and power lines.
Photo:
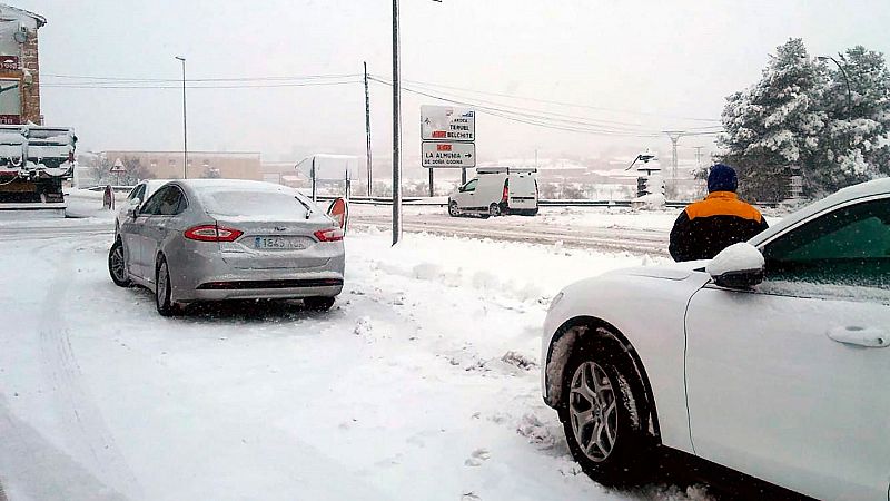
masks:
{"type": "MultiPolygon", "coordinates": [[[[81,148],[181,149],[181,90],[79,89],[57,76],[189,78],[392,75],[388,0],[21,0],[43,14],[43,115],[73,126],[81,148]]],[[[854,45],[890,52],[887,0],[402,0],[403,78],[535,100],[429,89],[512,105],[605,128],[659,131],[706,127],[724,98],[754,82],[768,53],[802,37],[813,55],[854,45]],[[609,111],[619,110],[619,111],[609,111]],[[693,118],[695,120],[690,120],[693,118]],[[620,124],[615,124],[620,122],[620,124]]],[[[314,151],[363,154],[364,89],[324,87],[188,91],[189,148],[261,151],[298,159],[314,151]]],[[[340,80],[329,80],[340,81],[340,80]]],[[[265,84],[269,84],[266,81],[265,84]]],[[[407,84],[406,84],[407,85],[407,84]]],[[[392,148],[390,90],[373,84],[375,155],[392,148]]],[[[418,115],[432,98],[405,92],[406,159],[419,153],[418,115]]],[[[494,105],[493,105],[494,104],[494,105]]],[[[527,111],[524,111],[527,112],[527,111]]],[[[538,112],[534,112],[538,114],[538,112]]],[[[683,138],[681,157],[706,138],[683,138]]],[[[611,156],[666,138],[543,129],[481,115],[481,159],[573,154],[611,156]]]]}

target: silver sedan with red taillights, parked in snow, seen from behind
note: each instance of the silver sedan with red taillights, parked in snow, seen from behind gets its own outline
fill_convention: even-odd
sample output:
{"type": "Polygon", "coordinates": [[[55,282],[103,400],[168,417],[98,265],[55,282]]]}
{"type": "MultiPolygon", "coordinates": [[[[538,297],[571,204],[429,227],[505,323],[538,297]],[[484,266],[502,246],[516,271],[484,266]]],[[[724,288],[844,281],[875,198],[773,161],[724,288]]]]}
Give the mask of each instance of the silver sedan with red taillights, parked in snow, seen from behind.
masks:
{"type": "Polygon", "coordinates": [[[152,291],[161,315],[221,299],[301,298],[328,310],[343,289],[343,230],[295,189],[177,180],[134,205],[109,272],[119,286],[152,291]]]}

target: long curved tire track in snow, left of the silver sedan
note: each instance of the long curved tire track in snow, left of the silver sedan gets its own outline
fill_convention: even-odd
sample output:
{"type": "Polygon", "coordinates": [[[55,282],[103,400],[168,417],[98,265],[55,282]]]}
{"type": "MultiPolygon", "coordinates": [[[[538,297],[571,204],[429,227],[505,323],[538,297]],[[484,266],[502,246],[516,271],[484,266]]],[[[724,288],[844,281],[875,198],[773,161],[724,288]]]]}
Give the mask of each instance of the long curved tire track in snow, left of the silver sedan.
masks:
{"type": "Polygon", "coordinates": [[[69,445],[79,459],[115,490],[129,498],[141,498],[141,489],[115,443],[101,411],[83,383],[83,375],[71,347],[70,330],[63,306],[71,281],[72,254],[79,243],[66,246],[57,261],[55,279],[47,289],[39,323],[41,369],[50,384],[57,419],[67,432],[69,445]]]}

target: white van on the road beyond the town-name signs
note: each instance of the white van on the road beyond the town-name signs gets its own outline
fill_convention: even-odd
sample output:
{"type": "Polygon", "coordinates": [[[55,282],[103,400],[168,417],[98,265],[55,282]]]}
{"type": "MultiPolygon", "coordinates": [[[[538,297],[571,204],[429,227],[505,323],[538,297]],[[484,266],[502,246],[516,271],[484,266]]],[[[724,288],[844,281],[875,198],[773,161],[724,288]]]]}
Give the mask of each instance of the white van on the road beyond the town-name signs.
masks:
{"type": "Polygon", "coordinates": [[[487,216],[537,214],[537,178],[534,168],[479,167],[476,177],[448,196],[448,214],[487,216]]]}

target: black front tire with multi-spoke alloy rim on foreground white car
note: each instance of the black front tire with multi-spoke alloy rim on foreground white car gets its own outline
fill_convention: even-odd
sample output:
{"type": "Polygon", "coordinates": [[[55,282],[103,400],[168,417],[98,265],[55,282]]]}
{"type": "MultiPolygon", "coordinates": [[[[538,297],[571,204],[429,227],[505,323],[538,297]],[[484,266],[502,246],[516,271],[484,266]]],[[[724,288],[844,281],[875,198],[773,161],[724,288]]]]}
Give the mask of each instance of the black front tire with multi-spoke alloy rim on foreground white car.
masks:
{"type": "Polygon", "coordinates": [[[651,478],[655,452],[643,383],[619,342],[604,330],[595,335],[568,358],[560,421],[590,478],[607,487],[640,484],[651,478]]]}

